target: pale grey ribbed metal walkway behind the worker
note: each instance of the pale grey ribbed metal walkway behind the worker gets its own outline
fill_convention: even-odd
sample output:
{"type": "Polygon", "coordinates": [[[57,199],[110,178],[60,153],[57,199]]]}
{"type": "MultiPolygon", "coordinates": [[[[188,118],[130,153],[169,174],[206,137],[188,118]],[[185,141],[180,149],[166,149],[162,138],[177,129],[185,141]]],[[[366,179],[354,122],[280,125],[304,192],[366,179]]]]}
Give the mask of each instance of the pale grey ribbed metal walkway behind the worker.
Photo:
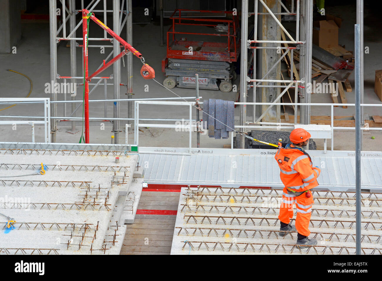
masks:
{"type": "MultiPolygon", "coordinates": [[[[282,187],[274,154],[141,154],[147,182],[181,184],[235,184],[282,187]]],[[[346,156],[312,156],[321,168],[320,187],[355,187],[355,160],[346,156]]],[[[382,159],[362,158],[362,188],[382,186],[382,159]]]]}

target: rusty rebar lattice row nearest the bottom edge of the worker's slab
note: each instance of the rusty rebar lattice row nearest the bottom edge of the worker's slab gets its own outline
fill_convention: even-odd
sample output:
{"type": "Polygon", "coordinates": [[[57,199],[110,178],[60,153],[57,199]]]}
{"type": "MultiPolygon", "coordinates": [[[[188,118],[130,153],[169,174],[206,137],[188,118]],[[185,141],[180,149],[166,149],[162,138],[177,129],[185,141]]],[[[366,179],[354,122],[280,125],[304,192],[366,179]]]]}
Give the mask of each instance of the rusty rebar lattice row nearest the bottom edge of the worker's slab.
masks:
{"type": "MultiPolygon", "coordinates": [[[[236,249],[238,252],[246,252],[246,250],[252,248],[253,252],[261,253],[262,251],[267,251],[269,253],[315,253],[315,254],[325,254],[327,250],[330,250],[330,253],[333,255],[339,255],[343,252],[347,254],[354,254],[355,247],[350,246],[336,246],[336,245],[316,245],[310,246],[306,249],[299,249],[296,244],[277,244],[277,243],[251,243],[251,242],[223,242],[223,241],[190,241],[190,240],[182,240],[184,243],[182,250],[185,250],[185,247],[188,245],[190,249],[195,250],[207,250],[214,251],[217,246],[218,249],[228,252],[231,249],[236,249]],[[199,244],[194,247],[194,244],[199,244]],[[210,245],[210,246],[208,246],[210,245]],[[224,247],[226,246],[226,248],[224,247]],[[203,246],[203,247],[202,247],[203,246]],[[313,250],[312,250],[313,249],[313,250]],[[345,250],[345,251],[344,251],[345,250]]],[[[186,248],[186,250],[188,250],[186,248]]],[[[366,255],[374,255],[374,254],[382,254],[381,248],[372,248],[372,247],[362,247],[362,252],[366,255]]],[[[328,251],[329,252],[329,251],[328,251]]]]}

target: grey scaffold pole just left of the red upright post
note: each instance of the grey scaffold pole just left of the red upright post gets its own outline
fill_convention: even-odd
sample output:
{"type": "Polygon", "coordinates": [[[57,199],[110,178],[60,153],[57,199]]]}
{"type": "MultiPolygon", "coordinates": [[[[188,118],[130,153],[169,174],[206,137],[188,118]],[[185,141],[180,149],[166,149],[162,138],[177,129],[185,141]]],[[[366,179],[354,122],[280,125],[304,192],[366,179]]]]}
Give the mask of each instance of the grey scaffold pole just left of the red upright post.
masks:
{"type": "MultiPolygon", "coordinates": [[[[76,27],[76,0],[69,0],[69,11],[71,12],[71,16],[70,16],[70,19],[69,19],[69,26],[70,26],[70,30],[73,30],[75,27],[76,27]]],[[[74,37],[76,35],[74,34],[74,37]]],[[[72,77],[75,77],[77,76],[76,74],[76,63],[77,63],[77,59],[76,59],[76,41],[74,40],[70,40],[70,75],[72,77]]],[[[77,93],[77,88],[76,86],[76,79],[71,79],[70,82],[72,83],[73,85],[73,89],[75,91],[75,93],[77,93]]],[[[71,100],[74,101],[76,99],[76,96],[71,96],[71,100]]],[[[73,115],[74,117],[76,116],[75,115],[75,111],[76,110],[76,104],[74,102],[71,103],[71,116],[73,115]]],[[[72,132],[74,133],[74,131],[76,130],[76,122],[75,121],[72,121],[71,122],[71,130],[72,132]]]]}

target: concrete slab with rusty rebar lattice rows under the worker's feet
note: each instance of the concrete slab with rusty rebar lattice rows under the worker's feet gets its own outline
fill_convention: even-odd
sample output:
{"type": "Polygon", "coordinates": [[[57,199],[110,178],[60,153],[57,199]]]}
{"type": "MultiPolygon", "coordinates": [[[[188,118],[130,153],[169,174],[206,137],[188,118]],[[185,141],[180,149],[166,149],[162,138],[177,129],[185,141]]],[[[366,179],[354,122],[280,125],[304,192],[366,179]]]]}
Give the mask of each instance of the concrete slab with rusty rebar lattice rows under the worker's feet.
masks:
{"type": "MultiPolygon", "coordinates": [[[[355,193],[313,191],[311,237],[317,245],[299,249],[297,232],[280,235],[282,190],[197,187],[182,189],[181,224],[174,239],[180,248],[201,252],[354,254],[355,193]],[[175,238],[177,237],[177,238],[175,238]],[[191,239],[190,239],[191,238],[191,239]],[[182,247],[183,246],[183,247],[182,247]]],[[[382,254],[381,193],[362,193],[361,234],[364,254],[382,254]]],[[[295,210],[296,211],[296,210],[295,210]]],[[[291,224],[295,219],[291,219],[291,224]]]]}

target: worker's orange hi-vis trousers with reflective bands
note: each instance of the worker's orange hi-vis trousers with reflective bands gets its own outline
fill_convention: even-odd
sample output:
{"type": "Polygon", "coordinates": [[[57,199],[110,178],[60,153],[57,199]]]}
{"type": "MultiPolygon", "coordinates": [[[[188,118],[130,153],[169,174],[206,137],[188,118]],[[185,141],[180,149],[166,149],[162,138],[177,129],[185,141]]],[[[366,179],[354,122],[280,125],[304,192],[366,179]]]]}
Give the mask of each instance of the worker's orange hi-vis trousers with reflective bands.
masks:
{"type": "MultiPolygon", "coordinates": [[[[312,192],[308,190],[309,193],[312,192]]],[[[283,198],[280,205],[280,214],[278,219],[283,223],[290,223],[293,218],[293,205],[296,203],[296,230],[299,234],[309,236],[309,221],[311,218],[311,210],[313,205],[313,197],[306,198],[306,193],[300,196],[288,194],[286,187],[283,189],[283,198]]]]}

